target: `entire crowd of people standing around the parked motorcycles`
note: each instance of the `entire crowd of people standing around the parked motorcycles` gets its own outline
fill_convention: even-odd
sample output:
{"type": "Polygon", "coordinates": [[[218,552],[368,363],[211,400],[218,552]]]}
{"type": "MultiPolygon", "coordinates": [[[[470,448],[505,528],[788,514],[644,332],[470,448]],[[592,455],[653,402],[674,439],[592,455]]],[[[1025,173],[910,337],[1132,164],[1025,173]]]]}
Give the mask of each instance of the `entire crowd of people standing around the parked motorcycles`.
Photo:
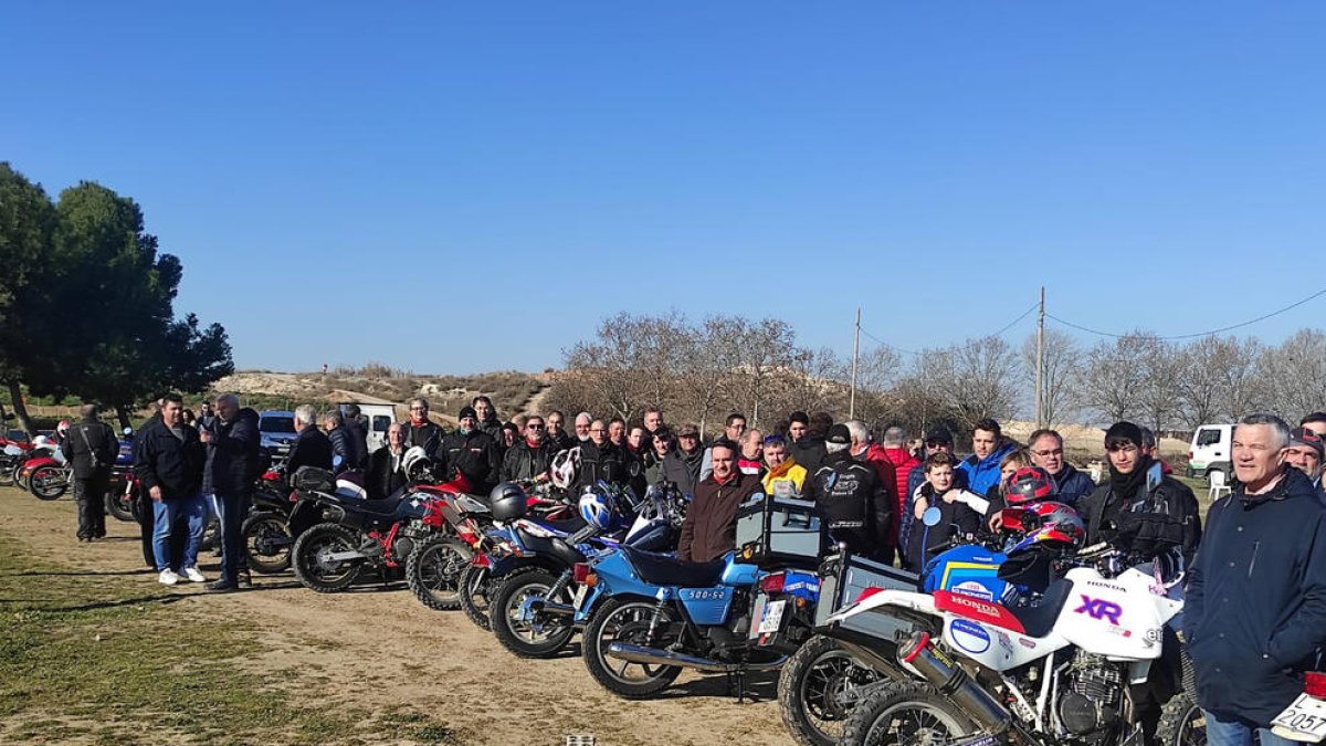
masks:
{"type": "MultiPolygon", "coordinates": [[[[188,423],[180,398],[163,397],[134,442],[134,471],[151,503],[145,556],[158,580],[206,580],[198,551],[215,514],[221,569],[207,588],[224,592],[248,583],[239,528],[265,466],[257,413],[241,408],[235,394],[210,404],[215,409],[204,405],[188,423]]],[[[1183,632],[1211,743],[1248,743],[1254,731],[1262,746],[1288,743],[1268,723],[1301,690],[1302,673],[1321,665],[1323,413],[1302,418],[1297,429],[1270,414],[1240,421],[1232,494],[1211,507],[1204,534],[1192,490],[1170,474],[1154,433],[1131,422],[1106,430],[1109,474],[1097,485],[1067,463],[1059,433],[1036,430],[1024,445],[993,419],[976,423],[972,453],[959,457],[953,433],[943,426],[919,441],[892,426],[876,439],[863,422],[834,422],[825,413],[793,411],[769,431],[748,427],[743,414],[732,413],[723,434],[704,442],[699,427],[674,429],[658,408],[638,423],[582,411],[568,429],[561,411],[501,422],[492,401],[476,397],[459,410],[450,433],[430,418],[427,400],[410,400],[407,410],[408,419],[391,425],[387,443],[369,453],[357,408],[321,417],[312,405],[296,408],[286,473],[301,466],[361,471],[369,498],[381,499],[406,485],[403,457],[412,446],[422,447],[440,474],[464,479],[477,494],[504,482],[546,479],[557,459],[573,458],[573,494],[602,479],[638,491],[671,482],[691,495],[678,547],[686,561],[712,561],[732,551],[739,506],[780,495],[814,503],[826,544],[846,544],[853,554],[911,569],[955,531],[998,530],[1001,508],[1012,498],[1034,495],[1059,506],[1054,520],[1067,536],[1106,542],[1187,579],[1179,588],[1187,596],[1183,632]],[[931,507],[947,531],[916,530],[931,507]]],[[[99,495],[118,447],[98,414],[94,405],[85,406],[82,421],[61,443],[74,470],[81,540],[105,535],[99,495]]],[[[1143,722],[1150,719],[1152,727],[1164,692],[1151,681],[1135,694],[1143,722]]]]}

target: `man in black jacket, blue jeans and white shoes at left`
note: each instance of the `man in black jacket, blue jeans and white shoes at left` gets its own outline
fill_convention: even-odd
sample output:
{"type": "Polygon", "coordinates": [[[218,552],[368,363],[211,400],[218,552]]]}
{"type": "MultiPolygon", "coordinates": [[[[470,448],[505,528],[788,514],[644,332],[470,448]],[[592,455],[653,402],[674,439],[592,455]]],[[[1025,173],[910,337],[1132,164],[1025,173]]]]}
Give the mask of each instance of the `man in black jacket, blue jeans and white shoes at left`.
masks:
{"type": "Polygon", "coordinates": [[[207,453],[198,430],[184,425],[179,394],[166,394],[160,401],[160,418],[149,421],[134,439],[134,474],[152,500],[156,581],[174,585],[183,576],[203,583],[207,577],[198,571],[198,547],[207,527],[202,491],[207,453]],[[171,532],[182,518],[187,520],[188,535],[183,558],[176,561],[170,551],[171,532]]]}

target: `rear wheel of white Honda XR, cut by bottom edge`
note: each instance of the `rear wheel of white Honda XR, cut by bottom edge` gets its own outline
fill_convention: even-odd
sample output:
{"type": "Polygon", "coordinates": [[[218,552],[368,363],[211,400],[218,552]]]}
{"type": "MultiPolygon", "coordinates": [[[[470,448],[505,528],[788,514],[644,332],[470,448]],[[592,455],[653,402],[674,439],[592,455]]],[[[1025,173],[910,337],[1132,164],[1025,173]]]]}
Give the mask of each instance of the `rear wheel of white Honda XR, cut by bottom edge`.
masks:
{"type": "Polygon", "coordinates": [[[930,686],[899,684],[867,697],[843,730],[849,746],[947,746],[977,729],[930,686]]]}

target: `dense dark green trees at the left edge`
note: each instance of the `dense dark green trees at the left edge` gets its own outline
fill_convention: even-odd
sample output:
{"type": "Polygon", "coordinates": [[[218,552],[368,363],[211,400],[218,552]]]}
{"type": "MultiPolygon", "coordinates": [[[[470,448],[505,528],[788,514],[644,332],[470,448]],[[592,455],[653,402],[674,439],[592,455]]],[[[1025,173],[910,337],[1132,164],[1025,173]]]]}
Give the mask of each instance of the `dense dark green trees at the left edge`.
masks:
{"type": "Polygon", "coordinates": [[[23,427],[24,390],[99,402],[129,426],[162,393],[232,373],[220,324],[175,317],[183,273],[133,199],[81,182],[52,200],[0,162],[0,382],[23,427]]]}

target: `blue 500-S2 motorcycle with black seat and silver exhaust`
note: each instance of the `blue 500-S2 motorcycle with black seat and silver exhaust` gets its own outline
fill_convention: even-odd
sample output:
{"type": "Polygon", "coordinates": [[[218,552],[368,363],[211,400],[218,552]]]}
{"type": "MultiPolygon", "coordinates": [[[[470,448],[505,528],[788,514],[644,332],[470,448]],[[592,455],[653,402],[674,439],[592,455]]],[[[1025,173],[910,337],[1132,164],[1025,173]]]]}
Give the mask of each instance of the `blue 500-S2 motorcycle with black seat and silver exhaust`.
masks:
{"type": "Polygon", "coordinates": [[[740,697],[745,672],[788,660],[772,638],[809,637],[819,597],[814,573],[765,572],[735,552],[693,564],[623,546],[575,573],[587,588],[575,616],[587,620],[585,666],[627,700],[662,692],[683,668],[736,676],[740,697]]]}

